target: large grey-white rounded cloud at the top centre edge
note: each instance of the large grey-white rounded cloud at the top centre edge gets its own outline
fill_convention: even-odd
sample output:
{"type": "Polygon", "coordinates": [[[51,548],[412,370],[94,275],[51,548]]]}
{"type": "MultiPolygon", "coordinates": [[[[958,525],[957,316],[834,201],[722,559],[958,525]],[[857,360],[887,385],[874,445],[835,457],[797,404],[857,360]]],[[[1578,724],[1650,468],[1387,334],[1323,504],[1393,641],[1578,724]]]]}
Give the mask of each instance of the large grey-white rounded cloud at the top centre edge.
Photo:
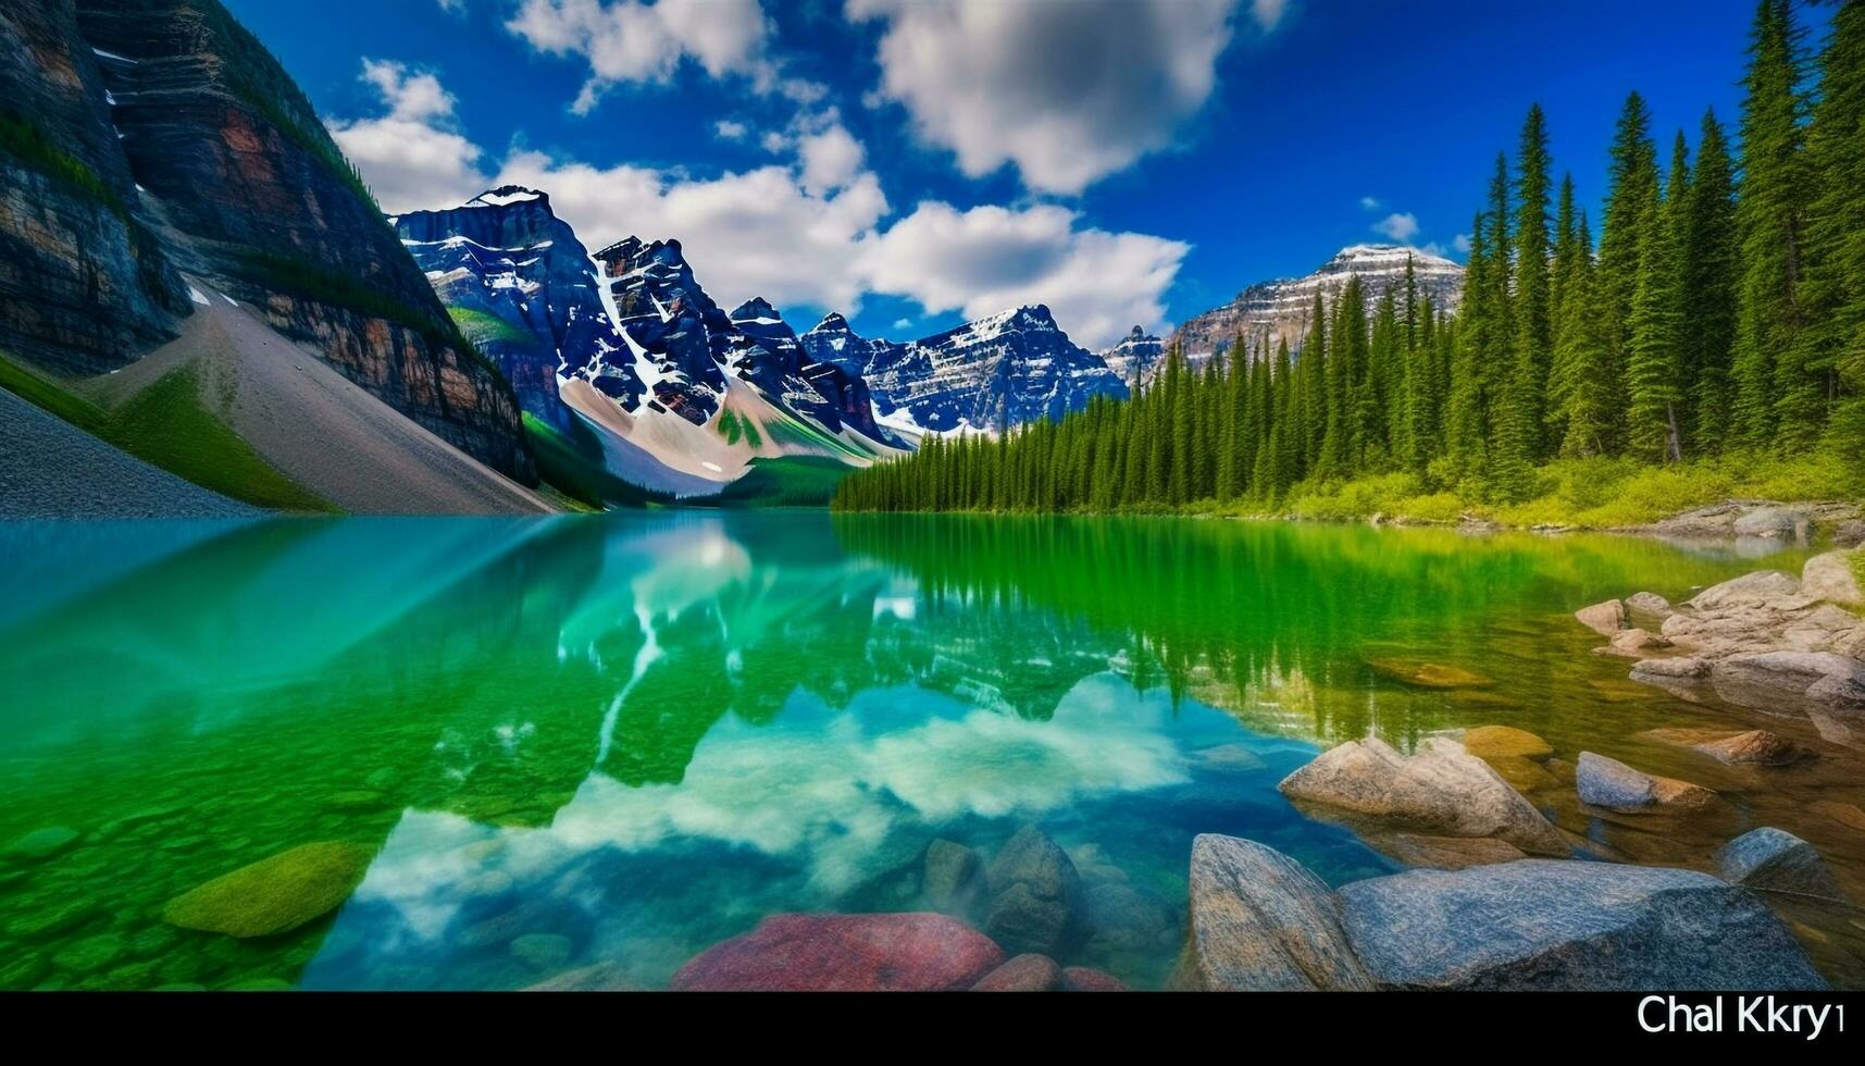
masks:
{"type": "MultiPolygon", "coordinates": [[[[884,21],[880,91],[972,177],[1074,194],[1171,144],[1216,84],[1238,0],[849,0],[884,21]]],[[[1251,7],[1259,24],[1279,2],[1251,7]]],[[[1264,22],[1264,19],[1270,19],[1264,22]]]]}

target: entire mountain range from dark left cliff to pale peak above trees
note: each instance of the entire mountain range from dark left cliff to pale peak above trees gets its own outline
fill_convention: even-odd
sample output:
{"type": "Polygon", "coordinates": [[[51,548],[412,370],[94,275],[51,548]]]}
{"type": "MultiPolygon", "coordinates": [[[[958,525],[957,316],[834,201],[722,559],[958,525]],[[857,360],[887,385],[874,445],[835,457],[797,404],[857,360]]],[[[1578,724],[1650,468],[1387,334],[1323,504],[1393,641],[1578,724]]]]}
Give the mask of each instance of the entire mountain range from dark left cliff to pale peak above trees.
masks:
{"type": "MultiPolygon", "coordinates": [[[[1044,304],[906,342],[841,314],[798,334],[761,297],[724,310],[677,237],[591,252],[545,190],[384,217],[283,67],[213,0],[7,4],[0,99],[9,392],[121,454],[123,478],[145,478],[142,459],[263,508],[711,497],[770,463],[852,469],[927,433],[1125,398],[1171,344],[1194,362],[1238,332],[1298,345],[1315,295],[1352,274],[1376,297],[1410,259],[1440,308],[1462,274],[1352,246],[1169,340],[1134,327],[1100,353],[1044,304]]],[[[50,485],[7,506],[56,512],[50,485]]]]}

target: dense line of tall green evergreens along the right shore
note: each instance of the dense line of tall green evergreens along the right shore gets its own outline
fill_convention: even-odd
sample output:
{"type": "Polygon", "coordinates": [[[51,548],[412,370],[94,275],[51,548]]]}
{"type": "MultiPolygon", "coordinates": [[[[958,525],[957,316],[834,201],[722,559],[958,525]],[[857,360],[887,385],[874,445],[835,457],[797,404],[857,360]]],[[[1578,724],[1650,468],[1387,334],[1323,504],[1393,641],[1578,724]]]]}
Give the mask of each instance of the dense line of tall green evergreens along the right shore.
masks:
{"type": "Polygon", "coordinates": [[[1740,151],[1714,112],[1660,164],[1632,93],[1598,241],[1554,183],[1531,106],[1470,231],[1460,306],[1412,263],[1380,293],[1319,293],[1300,349],[1194,370],[1177,345],[1132,400],[998,437],[931,437],[843,480],[841,510],[1177,510],[1276,504],[1412,472],[1516,502],[1554,459],[1677,463],[1833,446],[1865,461],[1865,0],[1818,56],[1790,0],[1761,0],[1740,151]]]}

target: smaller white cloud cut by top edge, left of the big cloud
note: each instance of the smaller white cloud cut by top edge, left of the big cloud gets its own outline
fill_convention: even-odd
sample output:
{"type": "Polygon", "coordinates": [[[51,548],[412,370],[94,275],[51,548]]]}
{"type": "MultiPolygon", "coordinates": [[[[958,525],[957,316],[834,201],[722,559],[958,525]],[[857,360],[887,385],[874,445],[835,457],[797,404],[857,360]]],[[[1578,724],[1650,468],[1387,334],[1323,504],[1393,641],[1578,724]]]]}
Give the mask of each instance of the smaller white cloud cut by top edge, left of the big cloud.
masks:
{"type": "Polygon", "coordinates": [[[686,60],[714,78],[746,75],[789,95],[765,58],[770,24],[757,0],[522,0],[505,28],[539,52],[589,62],[576,114],[612,86],[664,84],[686,60]]]}

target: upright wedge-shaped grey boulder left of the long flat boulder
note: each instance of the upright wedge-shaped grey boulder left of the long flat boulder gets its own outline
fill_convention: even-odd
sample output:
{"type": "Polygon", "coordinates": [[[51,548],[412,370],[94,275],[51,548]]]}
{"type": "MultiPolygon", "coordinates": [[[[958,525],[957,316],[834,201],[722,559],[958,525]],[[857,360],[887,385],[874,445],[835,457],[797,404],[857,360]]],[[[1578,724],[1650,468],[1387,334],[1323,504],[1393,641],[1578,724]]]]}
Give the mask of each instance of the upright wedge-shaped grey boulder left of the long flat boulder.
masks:
{"type": "Polygon", "coordinates": [[[1195,991],[1369,991],[1333,892],[1255,840],[1192,842],[1192,930],[1173,986],[1195,991]]]}

